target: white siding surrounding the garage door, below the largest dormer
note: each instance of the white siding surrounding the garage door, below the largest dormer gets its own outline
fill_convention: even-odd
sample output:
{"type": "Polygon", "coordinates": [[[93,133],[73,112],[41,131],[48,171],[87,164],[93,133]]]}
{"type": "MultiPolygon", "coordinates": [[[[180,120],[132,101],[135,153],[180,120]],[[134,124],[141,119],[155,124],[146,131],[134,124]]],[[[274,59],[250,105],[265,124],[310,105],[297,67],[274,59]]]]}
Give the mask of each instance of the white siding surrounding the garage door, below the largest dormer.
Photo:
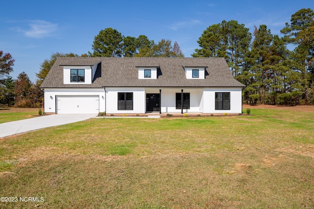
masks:
{"type": "Polygon", "coordinates": [[[98,95],[99,96],[99,112],[105,111],[105,90],[99,89],[52,89],[45,88],[45,101],[44,108],[45,113],[56,112],[56,96],[69,95],[69,96],[83,96],[83,95],[98,95]]]}

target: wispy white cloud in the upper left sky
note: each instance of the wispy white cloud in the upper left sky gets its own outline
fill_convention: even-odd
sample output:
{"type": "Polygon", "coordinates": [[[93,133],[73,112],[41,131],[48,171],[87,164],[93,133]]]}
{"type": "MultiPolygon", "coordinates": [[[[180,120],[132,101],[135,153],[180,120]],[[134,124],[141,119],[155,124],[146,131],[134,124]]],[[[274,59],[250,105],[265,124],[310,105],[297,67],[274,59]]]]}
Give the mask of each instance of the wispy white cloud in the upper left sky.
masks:
{"type": "Polygon", "coordinates": [[[30,38],[44,38],[51,37],[55,35],[55,32],[58,29],[58,24],[50,23],[42,20],[28,21],[29,29],[23,30],[17,28],[18,31],[24,33],[26,37],[30,38]]]}

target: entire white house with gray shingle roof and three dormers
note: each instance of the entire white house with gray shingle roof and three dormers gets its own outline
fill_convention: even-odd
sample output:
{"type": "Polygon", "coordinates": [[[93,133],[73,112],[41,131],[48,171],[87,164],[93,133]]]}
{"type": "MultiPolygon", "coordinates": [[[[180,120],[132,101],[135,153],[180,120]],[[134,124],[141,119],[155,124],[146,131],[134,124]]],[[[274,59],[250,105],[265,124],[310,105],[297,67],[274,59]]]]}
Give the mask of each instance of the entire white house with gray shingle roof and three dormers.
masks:
{"type": "Polygon", "coordinates": [[[45,113],[241,113],[224,58],[59,57],[41,85],[45,113]]]}

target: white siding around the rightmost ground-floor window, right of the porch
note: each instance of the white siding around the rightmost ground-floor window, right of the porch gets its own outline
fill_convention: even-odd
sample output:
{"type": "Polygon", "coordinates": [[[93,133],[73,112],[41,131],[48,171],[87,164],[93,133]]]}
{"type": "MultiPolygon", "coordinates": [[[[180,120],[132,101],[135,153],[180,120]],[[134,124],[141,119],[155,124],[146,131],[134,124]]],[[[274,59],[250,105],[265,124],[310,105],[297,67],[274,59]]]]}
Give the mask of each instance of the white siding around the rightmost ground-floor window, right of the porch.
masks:
{"type": "Polygon", "coordinates": [[[242,88],[204,88],[204,113],[242,113],[242,88]],[[230,110],[215,110],[215,92],[230,92],[230,110]]]}

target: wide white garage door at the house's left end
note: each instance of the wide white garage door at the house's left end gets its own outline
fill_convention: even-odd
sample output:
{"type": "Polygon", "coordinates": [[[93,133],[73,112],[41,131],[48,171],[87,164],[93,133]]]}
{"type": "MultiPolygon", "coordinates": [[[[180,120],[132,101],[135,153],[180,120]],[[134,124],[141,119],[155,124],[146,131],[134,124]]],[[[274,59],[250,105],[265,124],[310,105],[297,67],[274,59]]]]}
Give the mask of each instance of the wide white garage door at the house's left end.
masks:
{"type": "Polygon", "coordinates": [[[58,95],[56,104],[57,114],[98,114],[98,95],[58,95]]]}

